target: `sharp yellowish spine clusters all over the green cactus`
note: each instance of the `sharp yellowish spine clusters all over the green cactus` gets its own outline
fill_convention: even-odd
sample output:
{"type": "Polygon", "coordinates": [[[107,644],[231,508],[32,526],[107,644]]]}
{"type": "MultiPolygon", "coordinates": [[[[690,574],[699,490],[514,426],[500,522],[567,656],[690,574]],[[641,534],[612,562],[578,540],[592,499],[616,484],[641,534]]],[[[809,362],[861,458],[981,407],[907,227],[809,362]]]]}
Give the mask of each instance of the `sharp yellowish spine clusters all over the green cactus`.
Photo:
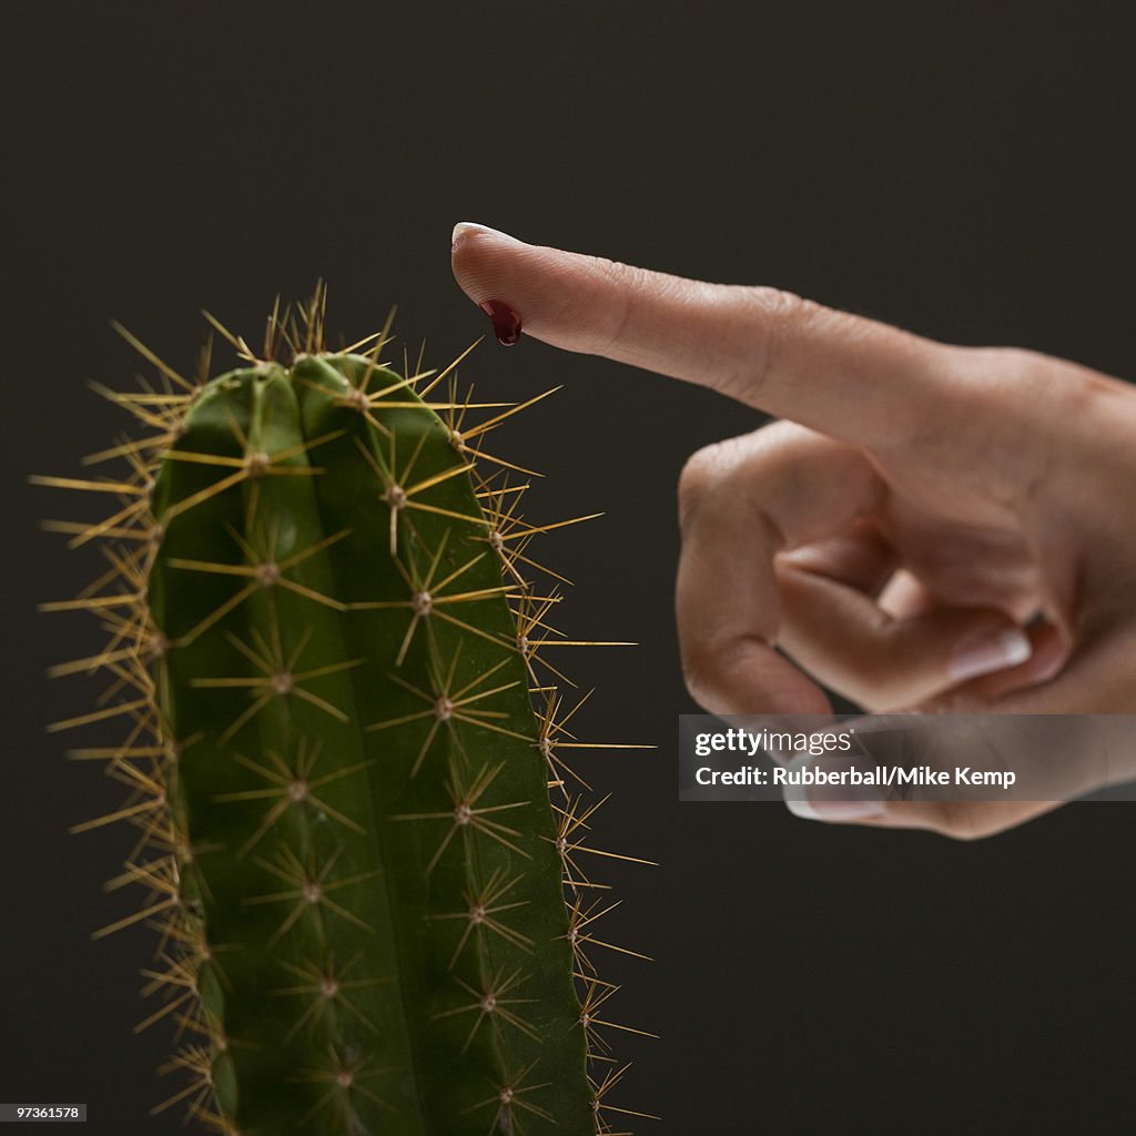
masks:
{"type": "MultiPolygon", "coordinates": [[[[268,320],[262,353],[258,357],[244,340],[232,335],[216,320],[210,318],[215,327],[236,348],[237,353],[252,366],[259,366],[268,360],[287,354],[291,358],[327,354],[324,345],[324,310],[326,293],[317,290],[312,301],[295,312],[279,312],[278,303],[274,307],[268,320]]],[[[393,316],[393,312],[392,312],[393,316]]],[[[379,352],[390,342],[389,319],[386,326],[376,336],[344,348],[336,354],[349,354],[370,344],[367,357],[374,361],[377,370],[379,352]]],[[[117,479],[111,478],[57,478],[37,477],[37,482],[84,493],[108,495],[114,502],[109,513],[93,523],[52,521],[49,528],[61,531],[70,536],[72,546],[81,546],[98,542],[108,567],[75,600],[61,603],[45,604],[53,610],[80,609],[93,613],[108,635],[105,649],[90,658],[74,660],[53,668],[53,674],[109,674],[111,684],[103,693],[99,708],[91,713],[55,724],[55,730],[73,727],[91,726],[102,721],[124,721],[127,726],[126,736],[117,744],[100,747],[87,747],[74,751],[81,759],[99,759],[106,761],[108,772],[120,780],[130,790],[127,800],[115,812],[75,826],[76,830],[85,830],[116,820],[125,820],[140,834],[127,859],[124,871],[110,880],[109,887],[120,887],[126,884],[140,885],[144,892],[140,910],[134,914],[118,920],[97,932],[97,936],[110,934],[123,927],[144,922],[157,929],[159,942],[157,959],[159,966],[145,974],[148,978],[144,992],[160,997],[160,1006],[148,1014],[137,1026],[145,1028],[159,1020],[176,1022],[178,1049],[170,1061],[161,1068],[162,1072],[181,1072],[187,1080],[176,1093],[159,1104],[154,1111],[165,1110],[175,1103],[185,1102],[190,1114],[203,1121],[215,1130],[227,1136],[241,1136],[233,1122],[224,1116],[215,1099],[215,1077],[219,1068],[219,1058],[229,1046],[215,1013],[210,1011],[210,999],[204,987],[211,985],[223,989],[226,983],[224,952],[237,950],[239,944],[211,945],[206,939],[201,919],[201,901],[195,897],[195,889],[203,886],[202,877],[193,871],[194,858],[207,853],[208,847],[192,847],[185,836],[185,827],[178,817],[177,808],[177,770],[179,754],[195,741],[194,737],[175,738],[172,736],[168,720],[162,713],[165,704],[162,686],[166,682],[166,662],[168,653],[184,645],[186,638],[195,637],[209,626],[225,617],[228,610],[235,608],[254,593],[277,585],[291,588],[317,603],[344,607],[329,595],[314,592],[311,588],[290,579],[287,573],[302,559],[318,550],[304,550],[293,553],[279,562],[275,559],[274,534],[265,534],[264,546],[245,548],[247,568],[234,570],[232,566],[190,563],[179,567],[185,570],[229,570],[233,575],[243,576],[244,582],[226,603],[225,610],[218,608],[210,616],[190,629],[186,635],[173,642],[167,641],[154,626],[150,604],[148,602],[148,582],[158,550],[161,548],[164,529],[156,519],[151,506],[154,488],[154,476],[164,460],[177,457],[172,448],[183,433],[183,424],[189,408],[199,398],[209,382],[210,346],[202,351],[201,362],[195,379],[183,378],[170,367],[158,359],[144,345],[128,333],[130,342],[158,368],[159,384],[143,385],[139,393],[107,394],[116,404],[126,408],[144,427],[149,429],[141,438],[123,438],[114,448],[92,454],[87,462],[98,465],[111,460],[125,463],[125,473],[117,479]],[[269,577],[268,566],[274,569],[269,577]],[[220,958],[218,958],[220,955],[220,958]]],[[[574,685],[562,671],[545,658],[551,648],[567,645],[598,645],[569,641],[561,636],[550,624],[550,616],[560,600],[559,585],[567,583],[556,573],[540,565],[529,556],[529,543],[540,533],[559,525],[533,526],[527,524],[520,511],[519,503],[527,488],[527,478],[536,476],[504,459],[492,454],[485,449],[487,435],[513,414],[537,401],[528,400],[515,406],[478,406],[470,401],[467,394],[459,399],[456,385],[456,367],[468,353],[463,352],[441,374],[424,371],[421,357],[411,374],[409,360],[403,357],[404,387],[424,400],[428,400],[438,385],[449,379],[448,399],[443,402],[427,406],[435,409],[445,421],[451,445],[460,456],[462,463],[459,469],[468,469],[474,477],[476,495],[484,510],[487,524],[479,531],[477,538],[486,544],[486,551],[492,551],[500,562],[502,586],[496,588],[507,596],[516,618],[517,648],[525,660],[529,676],[529,690],[536,704],[538,724],[538,746],[548,766],[548,787],[552,795],[552,808],[558,818],[556,849],[562,866],[562,883],[568,916],[568,939],[575,960],[575,974],[579,1001],[579,1028],[584,1033],[588,1061],[592,1067],[593,1112],[598,1133],[615,1134],[621,1130],[625,1118],[646,1116],[646,1113],[626,1110],[611,1104],[609,1093],[620,1081],[626,1067],[620,1067],[611,1056],[607,1039],[609,1029],[628,1029],[629,1027],[609,1020],[602,1009],[604,1003],[616,993],[617,987],[599,977],[591,949],[623,950],[598,937],[595,924],[616,904],[594,900],[592,896],[602,894],[603,885],[588,878],[585,864],[592,855],[611,855],[591,846],[586,842],[588,821],[603,801],[584,803],[590,786],[569,765],[566,751],[577,749],[617,749],[623,746],[593,746],[591,743],[575,738],[568,728],[569,719],[578,710],[584,699],[568,707],[562,685],[574,685]],[[476,424],[469,424],[471,411],[490,409],[488,417],[476,424]],[[551,580],[551,585],[540,588],[532,583],[533,575],[551,580]]],[[[382,423],[374,416],[376,406],[382,401],[383,409],[390,409],[391,389],[368,391],[368,376],[353,386],[343,399],[344,404],[353,406],[377,428],[381,434],[387,433],[382,423]]],[[[551,392],[549,392],[551,393],[551,392]]],[[[396,398],[396,393],[395,393],[396,398]]],[[[538,396],[543,398],[543,395],[538,396]]],[[[248,440],[241,440],[247,443],[248,440]]],[[[306,449],[317,445],[321,438],[306,444],[306,449]]],[[[242,446],[247,456],[241,461],[231,461],[231,471],[222,471],[223,476],[201,493],[181,501],[175,508],[184,512],[194,506],[209,500],[214,494],[224,492],[232,485],[243,482],[256,484],[260,478],[272,473],[291,471],[298,467],[286,463],[287,453],[267,454],[242,446]]],[[[200,457],[200,456],[199,456],[200,457]]],[[[368,459],[374,460],[371,456],[368,459]]],[[[193,460],[192,458],[190,460],[193,460]]],[[[218,461],[224,465],[224,461],[218,461]]],[[[389,483],[386,504],[390,508],[390,540],[394,551],[400,534],[400,518],[414,516],[415,510],[426,512],[437,511],[419,498],[436,478],[427,478],[416,483],[412,478],[414,454],[404,459],[393,452],[390,462],[376,467],[378,476],[389,483]]],[[[312,467],[302,467],[311,469],[312,467]]],[[[254,493],[251,494],[250,513],[254,510],[254,493]]],[[[468,518],[463,518],[468,519],[468,518]]],[[[574,524],[574,520],[561,521],[560,525],[574,524]]],[[[168,513],[162,520],[168,521],[168,513]]],[[[411,526],[412,527],[412,526],[411,526]]],[[[341,534],[342,535],[342,534],[341,534]]],[[[328,537],[328,541],[336,540],[328,537]]],[[[325,542],[327,543],[327,542],[325,542]]],[[[437,573],[440,557],[421,566],[420,574],[415,579],[407,580],[411,592],[409,601],[410,620],[403,641],[400,658],[415,635],[416,625],[427,620],[433,615],[449,618],[466,630],[477,634],[477,628],[448,611],[446,601],[452,604],[470,602],[478,594],[462,593],[457,587],[446,591],[453,582],[453,574],[443,578],[437,573]],[[416,599],[428,596],[429,608],[421,610],[416,607],[416,599]]],[[[395,560],[395,563],[400,563],[395,560]]],[[[357,604],[366,607],[365,603],[357,604]]],[[[274,695],[282,693],[281,684],[287,682],[285,693],[307,698],[318,704],[319,698],[306,690],[306,678],[318,677],[296,669],[300,650],[293,650],[285,658],[278,642],[261,642],[259,644],[237,644],[242,653],[262,671],[258,679],[234,679],[234,684],[245,686],[250,699],[250,716],[274,695]]],[[[486,709],[484,700],[495,693],[492,675],[483,675],[473,683],[454,685],[453,665],[437,666],[433,673],[433,685],[429,691],[423,691],[409,683],[403,683],[408,694],[420,699],[423,709],[412,711],[399,720],[373,724],[371,728],[383,729],[409,718],[420,717],[428,722],[420,754],[415,768],[429,749],[435,732],[446,728],[453,721],[467,721],[478,727],[502,729],[494,722],[494,712],[486,709]]],[[[441,660],[438,660],[441,663],[441,660]]],[[[218,684],[222,680],[217,680],[218,684]]],[[[586,698],[586,696],[585,696],[586,698]]],[[[335,707],[325,705],[329,713],[339,712],[335,707]]],[[[247,719],[245,719],[247,720],[247,719]]],[[[234,720],[231,734],[236,735],[244,722],[234,720]]],[[[232,795],[233,800],[250,800],[258,796],[265,805],[264,822],[253,833],[249,845],[242,853],[253,853],[259,837],[264,835],[276,819],[293,805],[318,802],[320,812],[332,816],[340,822],[352,826],[357,821],[336,813],[326,801],[320,801],[318,791],[331,778],[312,777],[317,753],[302,751],[289,760],[285,755],[274,753],[261,757],[259,761],[245,759],[250,768],[264,782],[259,791],[243,791],[232,795]]],[[[341,770],[332,777],[340,777],[353,770],[341,770]]],[[[507,805],[478,808],[479,794],[492,782],[494,770],[482,768],[467,778],[465,784],[451,784],[450,795],[453,803],[449,835],[440,843],[435,861],[449,842],[459,830],[462,838],[470,829],[481,829],[490,838],[509,846],[511,829],[498,816],[498,810],[507,805]]],[[[301,810],[302,811],[302,810],[301,810]]],[[[408,816],[406,819],[427,819],[424,816],[408,816]]],[[[434,819],[437,819],[436,817],[434,819]]],[[[624,858],[633,859],[633,858],[624,858]]],[[[324,875],[314,872],[301,861],[295,863],[268,864],[267,869],[279,877],[281,891],[273,895],[266,894],[265,902],[294,901],[293,911],[302,911],[304,902],[334,904],[329,895],[334,887],[353,884],[359,877],[331,883],[324,875]],[[290,887],[284,889],[283,885],[290,887]]],[[[500,874],[492,874],[476,892],[467,895],[468,911],[434,918],[465,918],[466,926],[458,937],[453,959],[460,955],[473,934],[483,928],[494,933],[515,945],[531,947],[531,943],[515,932],[507,921],[510,908],[509,892],[516,882],[500,874]]],[[[350,917],[350,912],[340,908],[340,912],[350,917]]],[[[284,920],[286,924],[287,919],[284,920]]],[[[282,927],[284,926],[282,924],[282,927]]],[[[286,928],[285,928],[286,929],[286,928]]],[[[626,952],[635,954],[635,952],[626,952]]],[[[642,955],[638,955],[642,957],[642,955]]],[[[358,959],[353,958],[339,966],[328,960],[325,964],[311,962],[308,966],[294,967],[294,984],[281,986],[273,993],[278,996],[307,997],[308,1006],[298,1019],[298,1027],[325,1010],[334,1008],[337,1011],[358,1014],[352,1008],[352,991],[381,983],[381,977],[360,977],[353,968],[358,959]]],[[[465,985],[473,1000],[468,1008],[476,1013],[474,1030],[487,1014],[510,1022],[515,1028],[524,1030],[526,1024],[523,1017],[525,1000],[517,997],[516,988],[519,974],[495,975],[485,989],[465,985]],[[512,996],[510,996],[512,995],[512,996]]],[[[460,1013],[461,1010],[452,1011],[460,1013]]],[[[496,1020],[496,1019],[495,1019],[496,1020]]],[[[640,1030],[632,1030],[641,1033],[640,1030]]],[[[470,1034],[473,1037],[473,1033],[470,1034]]],[[[240,1044],[240,1043],[235,1043],[240,1044]]],[[[223,1064],[223,1062],[222,1062],[223,1064]]],[[[381,1100],[369,1087],[369,1080],[376,1076],[366,1062],[351,1055],[331,1052],[326,1068],[310,1070],[310,1078],[328,1085],[327,1094],[332,1096],[337,1089],[360,1092],[366,1096],[381,1100]]],[[[501,1085],[494,1085],[494,1095],[487,1097],[481,1106],[490,1117],[490,1131],[523,1131],[525,1114],[550,1117],[540,1104],[540,1089],[544,1084],[534,1081],[533,1064],[518,1068],[501,1085]]],[[[323,1099],[323,1097],[321,1097],[323,1099]]],[[[475,1108],[478,1108],[475,1105],[475,1108]]]]}

